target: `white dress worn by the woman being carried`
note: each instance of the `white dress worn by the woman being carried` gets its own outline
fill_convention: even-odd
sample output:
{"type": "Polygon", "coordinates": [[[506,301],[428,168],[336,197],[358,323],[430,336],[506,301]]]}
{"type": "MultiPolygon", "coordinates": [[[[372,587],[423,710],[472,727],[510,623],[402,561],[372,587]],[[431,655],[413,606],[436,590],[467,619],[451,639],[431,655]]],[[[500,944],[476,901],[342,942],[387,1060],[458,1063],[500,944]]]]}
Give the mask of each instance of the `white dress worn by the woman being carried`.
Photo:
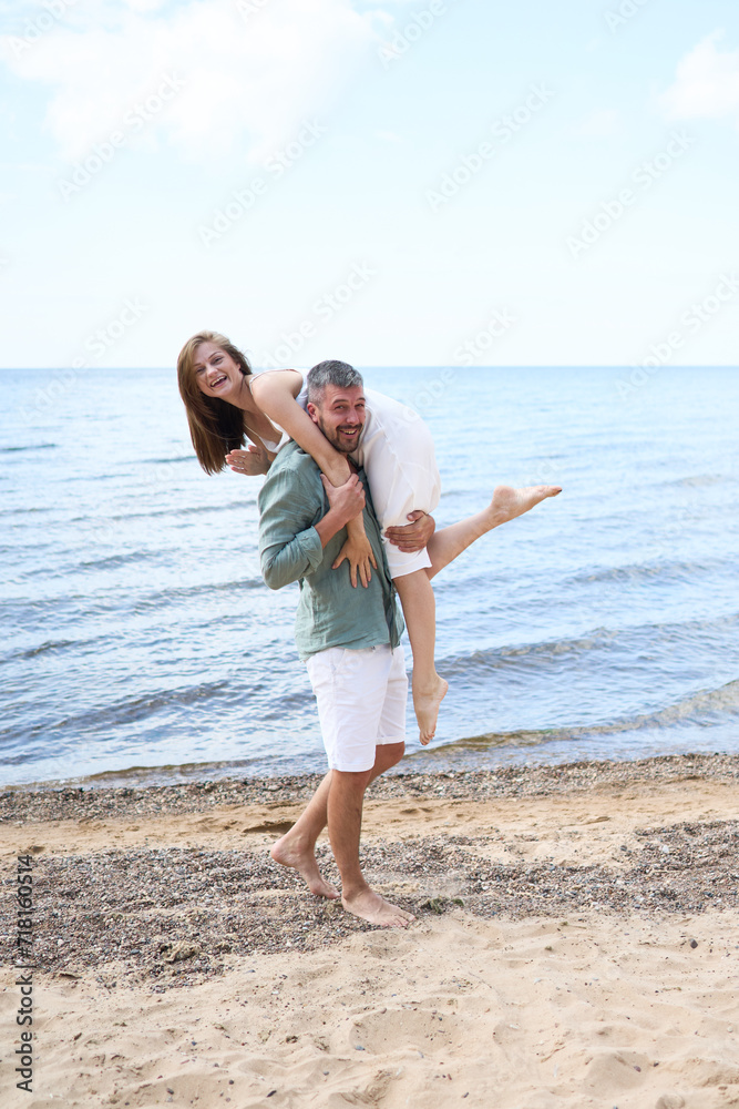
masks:
{"type": "MultiPolygon", "coordinates": [[[[297,397],[301,408],[308,404],[305,378],[304,374],[302,389],[297,397]]],[[[365,389],[365,427],[359,447],[351,457],[365,467],[374,511],[384,531],[410,523],[408,513],[417,509],[433,512],[441,496],[441,478],[431,433],[418,413],[373,389],[365,389]]],[[[288,441],[289,436],[283,431],[279,442],[265,442],[265,446],[277,451],[288,441]]],[[[404,553],[384,536],[382,542],[391,578],[431,566],[425,547],[404,553]]]]}

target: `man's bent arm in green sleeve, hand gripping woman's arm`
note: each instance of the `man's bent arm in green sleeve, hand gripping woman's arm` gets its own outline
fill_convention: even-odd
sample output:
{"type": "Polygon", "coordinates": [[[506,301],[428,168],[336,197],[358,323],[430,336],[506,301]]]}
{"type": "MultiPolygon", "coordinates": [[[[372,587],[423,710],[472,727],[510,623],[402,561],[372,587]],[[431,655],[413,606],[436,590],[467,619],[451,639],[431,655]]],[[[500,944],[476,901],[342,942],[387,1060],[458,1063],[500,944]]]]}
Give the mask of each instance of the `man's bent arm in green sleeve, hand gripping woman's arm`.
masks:
{"type": "Polygon", "coordinates": [[[289,469],[271,472],[259,495],[259,557],[270,589],[281,589],[315,570],[327,543],[365,506],[365,491],[356,475],[337,488],[321,475],[329,509],[316,520],[324,498],[307,477],[289,469]]]}

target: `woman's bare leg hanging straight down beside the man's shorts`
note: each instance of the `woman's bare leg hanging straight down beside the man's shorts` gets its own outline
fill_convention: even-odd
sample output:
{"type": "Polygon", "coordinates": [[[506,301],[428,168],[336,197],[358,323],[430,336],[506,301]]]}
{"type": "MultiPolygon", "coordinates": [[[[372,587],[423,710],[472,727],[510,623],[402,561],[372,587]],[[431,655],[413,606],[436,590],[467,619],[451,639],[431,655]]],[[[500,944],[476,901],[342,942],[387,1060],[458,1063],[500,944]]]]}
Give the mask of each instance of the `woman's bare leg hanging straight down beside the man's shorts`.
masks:
{"type": "Polygon", "coordinates": [[[413,709],[419,724],[420,740],[424,745],[433,739],[439,705],[449,689],[444,679],[437,673],[433,661],[437,642],[437,602],[430,573],[429,568],[393,578],[413,652],[413,709]]]}

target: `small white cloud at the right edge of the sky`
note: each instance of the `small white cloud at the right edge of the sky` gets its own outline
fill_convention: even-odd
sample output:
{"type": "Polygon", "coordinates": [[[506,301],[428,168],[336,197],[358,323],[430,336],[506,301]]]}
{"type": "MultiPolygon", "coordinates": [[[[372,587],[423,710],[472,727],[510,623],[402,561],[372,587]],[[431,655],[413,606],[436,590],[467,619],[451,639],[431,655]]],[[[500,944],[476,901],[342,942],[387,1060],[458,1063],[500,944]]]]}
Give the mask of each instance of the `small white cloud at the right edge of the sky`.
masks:
{"type": "Polygon", "coordinates": [[[677,67],[677,80],[660,98],[671,120],[733,116],[739,126],[739,50],[719,50],[723,31],[714,31],[677,67]]]}

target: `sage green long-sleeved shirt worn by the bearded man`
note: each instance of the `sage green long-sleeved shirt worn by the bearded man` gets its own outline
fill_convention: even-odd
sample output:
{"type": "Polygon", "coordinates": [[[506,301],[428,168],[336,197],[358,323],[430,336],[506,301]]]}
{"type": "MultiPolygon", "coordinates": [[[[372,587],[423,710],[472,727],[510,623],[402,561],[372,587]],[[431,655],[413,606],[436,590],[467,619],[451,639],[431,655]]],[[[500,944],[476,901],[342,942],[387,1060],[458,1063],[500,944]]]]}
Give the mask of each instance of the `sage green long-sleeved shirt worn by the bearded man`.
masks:
{"type": "Polygon", "coordinates": [[[321,547],[315,526],[328,512],[329,503],[310,455],[288,442],[269,467],[259,494],[261,573],[270,589],[299,582],[295,641],[301,659],[329,647],[359,651],[379,643],[394,648],[400,642],[403,621],[361,469],[359,479],[366,496],[365,530],[378,567],[367,589],[361,583],[352,587],[347,561],[331,569],[346,542],[346,528],[321,547]]]}

